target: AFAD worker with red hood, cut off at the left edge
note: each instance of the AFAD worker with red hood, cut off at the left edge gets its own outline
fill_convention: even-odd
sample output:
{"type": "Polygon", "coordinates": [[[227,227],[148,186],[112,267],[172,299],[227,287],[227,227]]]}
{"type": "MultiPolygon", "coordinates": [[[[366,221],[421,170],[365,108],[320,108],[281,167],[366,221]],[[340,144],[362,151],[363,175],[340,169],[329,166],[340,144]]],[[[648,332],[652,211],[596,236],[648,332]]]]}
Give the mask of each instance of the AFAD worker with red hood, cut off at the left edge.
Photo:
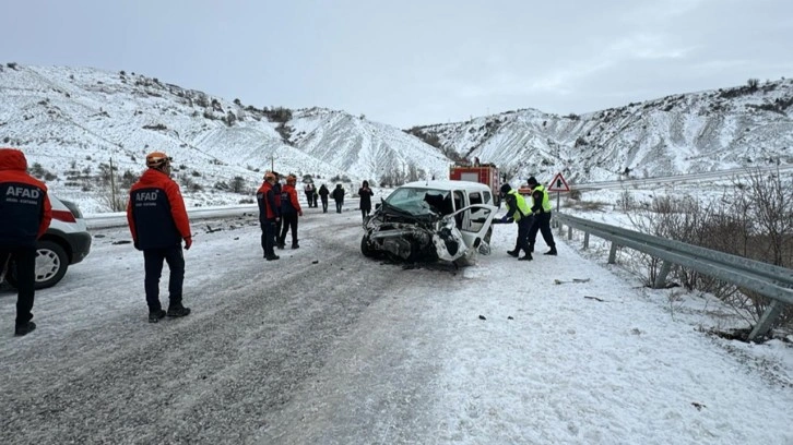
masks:
{"type": "Polygon", "coordinates": [[[16,264],[14,335],[36,328],[32,322],[36,285],[36,241],[49,228],[52,207],[47,185],[27,175],[27,159],[15,148],[0,148],[0,275],[16,264]]]}

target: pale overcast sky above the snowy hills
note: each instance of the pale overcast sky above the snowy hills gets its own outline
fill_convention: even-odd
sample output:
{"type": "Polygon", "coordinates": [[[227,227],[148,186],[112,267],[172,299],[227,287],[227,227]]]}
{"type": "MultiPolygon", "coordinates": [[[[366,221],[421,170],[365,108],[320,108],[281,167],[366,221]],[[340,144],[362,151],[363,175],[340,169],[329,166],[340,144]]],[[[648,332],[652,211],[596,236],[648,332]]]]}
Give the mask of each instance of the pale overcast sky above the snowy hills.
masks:
{"type": "Polygon", "coordinates": [[[790,0],[0,0],[2,62],[400,128],[793,76],[790,0]]]}

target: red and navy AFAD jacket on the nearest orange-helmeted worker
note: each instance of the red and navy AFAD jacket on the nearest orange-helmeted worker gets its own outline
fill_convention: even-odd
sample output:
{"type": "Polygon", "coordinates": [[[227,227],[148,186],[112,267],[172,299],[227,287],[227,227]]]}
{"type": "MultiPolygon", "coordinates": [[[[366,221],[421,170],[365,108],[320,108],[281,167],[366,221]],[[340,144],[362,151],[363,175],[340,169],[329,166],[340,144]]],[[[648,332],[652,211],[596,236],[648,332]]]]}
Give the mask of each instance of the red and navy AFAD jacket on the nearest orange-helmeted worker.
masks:
{"type": "Polygon", "coordinates": [[[190,220],[179,185],[150,168],[129,191],[127,221],[140,250],[173,248],[190,237],[190,220]]]}

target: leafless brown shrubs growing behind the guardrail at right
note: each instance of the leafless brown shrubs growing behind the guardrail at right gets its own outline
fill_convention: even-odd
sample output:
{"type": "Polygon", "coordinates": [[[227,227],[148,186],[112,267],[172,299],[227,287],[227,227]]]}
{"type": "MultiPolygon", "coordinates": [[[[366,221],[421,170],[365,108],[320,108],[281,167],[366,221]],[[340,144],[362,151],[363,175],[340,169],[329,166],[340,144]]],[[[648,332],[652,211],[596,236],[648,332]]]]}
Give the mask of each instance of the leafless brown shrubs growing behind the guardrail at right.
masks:
{"type": "MultiPolygon", "coordinates": [[[[703,205],[688,196],[653,200],[650,208],[628,216],[637,230],[782,267],[793,266],[793,180],[779,172],[750,170],[721,200],[703,205]]],[[[642,256],[646,284],[658,276],[660,261],[642,256]]],[[[688,290],[714,294],[749,323],[770,304],[761,294],[674,266],[671,277],[688,290]]],[[[793,308],[786,306],[776,326],[791,327],[793,308]]]]}

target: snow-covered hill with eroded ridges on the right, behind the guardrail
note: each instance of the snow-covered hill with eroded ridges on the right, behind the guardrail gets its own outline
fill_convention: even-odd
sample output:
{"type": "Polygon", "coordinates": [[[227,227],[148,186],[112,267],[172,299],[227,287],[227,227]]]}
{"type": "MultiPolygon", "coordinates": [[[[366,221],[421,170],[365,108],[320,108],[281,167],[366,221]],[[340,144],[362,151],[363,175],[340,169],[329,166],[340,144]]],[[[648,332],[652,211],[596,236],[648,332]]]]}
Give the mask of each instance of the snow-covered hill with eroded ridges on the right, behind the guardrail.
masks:
{"type": "Polygon", "coordinates": [[[571,182],[793,163],[793,80],[629,104],[583,116],[534,109],[422,127],[510,178],[571,182]]]}

